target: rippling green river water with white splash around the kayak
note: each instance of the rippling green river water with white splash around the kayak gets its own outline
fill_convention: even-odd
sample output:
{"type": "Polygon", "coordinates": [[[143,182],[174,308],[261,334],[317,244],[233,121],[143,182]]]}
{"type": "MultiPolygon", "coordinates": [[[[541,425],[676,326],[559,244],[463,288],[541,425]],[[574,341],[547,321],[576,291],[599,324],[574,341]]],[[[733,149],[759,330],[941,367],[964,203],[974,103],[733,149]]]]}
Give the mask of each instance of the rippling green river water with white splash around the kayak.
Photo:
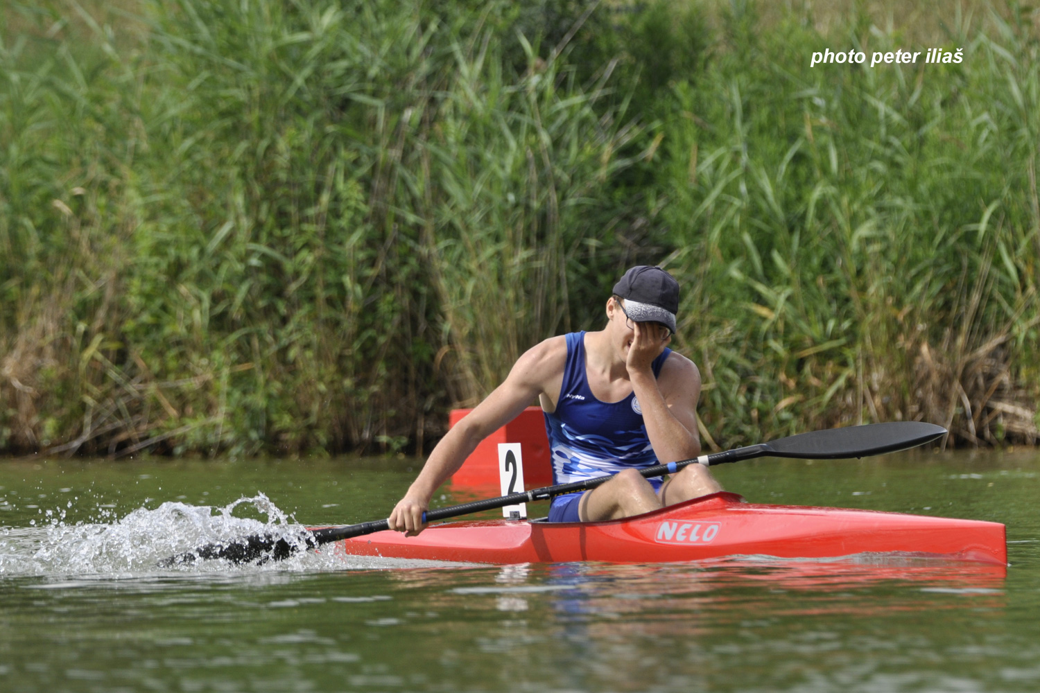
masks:
{"type": "MultiPolygon", "coordinates": [[[[0,691],[1040,690],[1033,450],[717,468],[752,502],[1005,523],[1006,571],[313,553],[156,567],[265,526],[383,517],[418,463],[0,460],[0,691]]],[[[472,500],[443,490],[440,504],[472,500]]]]}

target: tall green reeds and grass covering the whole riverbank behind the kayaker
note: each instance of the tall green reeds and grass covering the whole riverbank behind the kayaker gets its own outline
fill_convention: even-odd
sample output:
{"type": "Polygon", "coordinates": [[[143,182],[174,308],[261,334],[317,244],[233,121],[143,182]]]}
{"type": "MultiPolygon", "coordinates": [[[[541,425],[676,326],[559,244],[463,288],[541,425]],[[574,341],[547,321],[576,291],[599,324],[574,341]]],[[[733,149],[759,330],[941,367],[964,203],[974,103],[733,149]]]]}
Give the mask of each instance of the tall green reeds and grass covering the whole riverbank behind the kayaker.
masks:
{"type": "Polygon", "coordinates": [[[635,263],[708,446],[1035,443],[1040,18],[900,7],[16,1],[0,450],[421,452],[635,263]]]}

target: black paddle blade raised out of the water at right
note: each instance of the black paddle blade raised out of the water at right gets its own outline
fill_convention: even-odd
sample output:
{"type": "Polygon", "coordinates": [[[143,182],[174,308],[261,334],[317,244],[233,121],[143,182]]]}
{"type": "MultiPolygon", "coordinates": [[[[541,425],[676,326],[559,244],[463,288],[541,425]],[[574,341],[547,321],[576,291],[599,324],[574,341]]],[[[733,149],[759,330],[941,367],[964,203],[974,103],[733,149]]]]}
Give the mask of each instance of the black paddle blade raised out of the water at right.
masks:
{"type": "Polygon", "coordinates": [[[894,421],[866,426],[809,431],[765,443],[773,457],[846,459],[906,450],[945,435],[946,429],[919,421],[894,421]]]}

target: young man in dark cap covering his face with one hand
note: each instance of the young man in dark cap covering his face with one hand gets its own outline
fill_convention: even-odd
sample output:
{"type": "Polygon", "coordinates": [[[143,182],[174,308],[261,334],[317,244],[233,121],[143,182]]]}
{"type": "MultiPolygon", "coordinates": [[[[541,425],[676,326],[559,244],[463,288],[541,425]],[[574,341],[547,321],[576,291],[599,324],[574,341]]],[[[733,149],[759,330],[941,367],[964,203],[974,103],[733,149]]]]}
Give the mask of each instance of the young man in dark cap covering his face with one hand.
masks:
{"type": "Polygon", "coordinates": [[[697,457],[701,376],[667,348],[679,285],[660,267],[632,267],[606,301],[606,327],[553,337],[527,350],[505,381],[437,444],[390,513],[391,529],[415,535],[430,499],[477,444],[537,397],[545,411],[553,483],[617,474],[592,490],[556,497],[551,522],[627,517],[722,490],[690,464],[664,483],[638,470],[697,457]]]}

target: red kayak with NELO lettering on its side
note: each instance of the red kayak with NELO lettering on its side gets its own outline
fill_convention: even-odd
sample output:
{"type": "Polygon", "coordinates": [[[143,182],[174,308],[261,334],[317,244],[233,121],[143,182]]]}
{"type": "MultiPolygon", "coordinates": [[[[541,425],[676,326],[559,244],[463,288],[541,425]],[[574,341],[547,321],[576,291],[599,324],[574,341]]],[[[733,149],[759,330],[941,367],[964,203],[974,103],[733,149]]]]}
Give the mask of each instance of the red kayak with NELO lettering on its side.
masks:
{"type": "Polygon", "coordinates": [[[721,556],[836,558],[899,554],[1007,565],[1005,527],[898,512],[747,503],[729,492],[625,519],[492,519],[433,525],[416,537],[375,532],[336,541],[355,556],[534,563],[694,561],[721,556]]]}

